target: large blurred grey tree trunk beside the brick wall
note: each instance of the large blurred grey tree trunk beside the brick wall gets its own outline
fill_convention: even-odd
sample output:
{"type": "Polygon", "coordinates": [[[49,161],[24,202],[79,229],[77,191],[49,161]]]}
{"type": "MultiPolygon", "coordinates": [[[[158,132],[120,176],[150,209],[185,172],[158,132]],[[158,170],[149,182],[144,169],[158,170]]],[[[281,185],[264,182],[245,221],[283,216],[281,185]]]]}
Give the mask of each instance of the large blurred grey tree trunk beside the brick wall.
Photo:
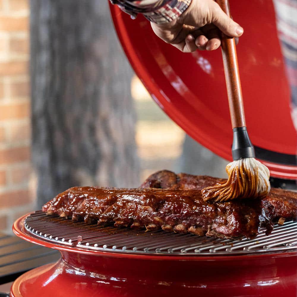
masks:
{"type": "Polygon", "coordinates": [[[102,0],[31,0],[37,204],[75,185],[136,187],[132,70],[102,0]]]}

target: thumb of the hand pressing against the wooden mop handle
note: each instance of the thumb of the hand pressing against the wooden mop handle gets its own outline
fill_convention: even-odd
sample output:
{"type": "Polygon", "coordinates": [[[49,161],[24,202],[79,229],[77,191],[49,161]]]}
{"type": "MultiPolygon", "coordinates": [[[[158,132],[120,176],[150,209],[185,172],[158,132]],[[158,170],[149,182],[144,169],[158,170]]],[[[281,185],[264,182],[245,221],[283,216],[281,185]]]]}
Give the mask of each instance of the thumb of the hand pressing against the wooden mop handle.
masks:
{"type": "Polygon", "coordinates": [[[224,34],[230,37],[239,37],[243,34],[243,28],[235,23],[225,12],[222,11],[219,4],[214,1],[211,7],[211,22],[216,25],[224,34]]]}

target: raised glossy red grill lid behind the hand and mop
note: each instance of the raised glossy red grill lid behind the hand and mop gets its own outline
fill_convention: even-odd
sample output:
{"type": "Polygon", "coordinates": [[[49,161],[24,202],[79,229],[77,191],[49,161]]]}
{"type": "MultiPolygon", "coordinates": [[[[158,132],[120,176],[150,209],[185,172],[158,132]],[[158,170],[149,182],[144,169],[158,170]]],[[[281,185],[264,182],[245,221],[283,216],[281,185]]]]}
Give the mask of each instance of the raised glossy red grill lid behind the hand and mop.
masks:
{"type": "MultiPolygon", "coordinates": [[[[272,1],[230,0],[245,32],[237,46],[247,127],[256,156],[271,176],[297,179],[297,135],[290,89],[277,38],[272,1]]],[[[143,16],[110,6],[113,22],[135,72],[157,104],[192,138],[232,160],[232,128],[221,51],[179,52],[156,37],[143,16]]]]}

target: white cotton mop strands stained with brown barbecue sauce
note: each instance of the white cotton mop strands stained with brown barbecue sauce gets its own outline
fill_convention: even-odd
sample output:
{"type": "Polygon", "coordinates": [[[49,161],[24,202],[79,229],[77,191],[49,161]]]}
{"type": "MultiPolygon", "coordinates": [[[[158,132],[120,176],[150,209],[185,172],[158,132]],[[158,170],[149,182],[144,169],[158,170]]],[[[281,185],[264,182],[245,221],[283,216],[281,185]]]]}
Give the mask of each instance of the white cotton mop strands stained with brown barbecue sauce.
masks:
{"type": "Polygon", "coordinates": [[[236,198],[263,197],[270,191],[269,170],[255,158],[239,159],[226,167],[229,175],[225,183],[204,188],[204,201],[228,201],[236,198]]]}

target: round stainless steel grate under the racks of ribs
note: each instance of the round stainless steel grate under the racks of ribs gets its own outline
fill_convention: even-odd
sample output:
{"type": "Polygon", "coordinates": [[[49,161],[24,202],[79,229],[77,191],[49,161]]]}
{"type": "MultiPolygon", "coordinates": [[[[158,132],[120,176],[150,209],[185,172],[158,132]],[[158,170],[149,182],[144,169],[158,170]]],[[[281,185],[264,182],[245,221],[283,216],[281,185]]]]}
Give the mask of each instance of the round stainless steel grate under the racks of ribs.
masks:
{"type": "Polygon", "coordinates": [[[25,228],[32,235],[46,241],[106,252],[197,256],[297,251],[297,222],[293,221],[285,222],[282,226],[276,225],[269,236],[261,229],[259,235],[252,240],[103,227],[48,216],[41,211],[25,219],[25,228]]]}

